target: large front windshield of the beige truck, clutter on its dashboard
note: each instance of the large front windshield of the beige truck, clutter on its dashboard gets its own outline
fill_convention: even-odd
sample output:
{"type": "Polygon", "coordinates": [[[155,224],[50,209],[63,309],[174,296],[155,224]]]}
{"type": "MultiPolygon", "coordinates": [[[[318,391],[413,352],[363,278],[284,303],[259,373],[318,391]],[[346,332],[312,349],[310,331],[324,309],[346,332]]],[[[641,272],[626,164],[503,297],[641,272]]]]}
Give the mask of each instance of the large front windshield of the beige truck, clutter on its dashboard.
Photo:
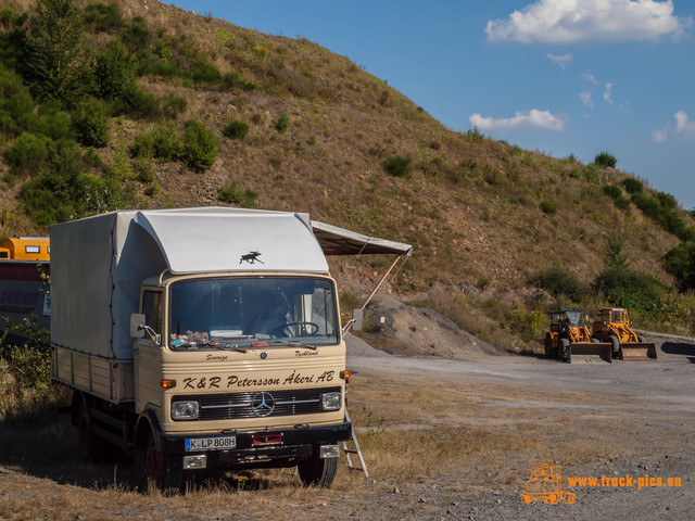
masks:
{"type": "Polygon", "coordinates": [[[249,277],[172,284],[172,348],[338,342],[333,284],[325,279],[249,277]]]}

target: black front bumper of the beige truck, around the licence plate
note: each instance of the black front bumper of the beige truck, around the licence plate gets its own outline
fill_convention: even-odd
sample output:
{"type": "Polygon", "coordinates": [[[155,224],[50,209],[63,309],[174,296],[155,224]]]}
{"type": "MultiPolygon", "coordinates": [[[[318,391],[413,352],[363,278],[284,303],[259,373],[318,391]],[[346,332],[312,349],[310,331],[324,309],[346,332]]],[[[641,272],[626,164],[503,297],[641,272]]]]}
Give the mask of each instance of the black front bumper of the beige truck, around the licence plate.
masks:
{"type": "Polygon", "coordinates": [[[237,468],[293,467],[298,461],[312,457],[321,445],[337,444],[350,440],[352,424],[349,421],[334,425],[296,427],[274,431],[225,432],[220,436],[233,435],[237,444],[229,450],[186,450],[186,440],[205,436],[160,435],[164,453],[178,456],[205,455],[205,470],[237,468]]]}

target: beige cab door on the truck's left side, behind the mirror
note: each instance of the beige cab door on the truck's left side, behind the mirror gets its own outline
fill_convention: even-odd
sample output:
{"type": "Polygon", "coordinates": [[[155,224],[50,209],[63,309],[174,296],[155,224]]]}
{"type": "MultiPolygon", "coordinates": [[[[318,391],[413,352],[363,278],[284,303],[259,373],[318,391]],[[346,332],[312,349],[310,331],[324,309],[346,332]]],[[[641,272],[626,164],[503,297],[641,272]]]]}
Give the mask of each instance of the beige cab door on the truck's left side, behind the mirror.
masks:
{"type": "Polygon", "coordinates": [[[157,416],[162,412],[163,392],[160,386],[162,376],[162,345],[164,294],[161,290],[144,289],[140,312],[148,327],[144,336],[135,342],[132,350],[135,363],[135,403],[136,412],[147,407],[154,408],[157,416]]]}

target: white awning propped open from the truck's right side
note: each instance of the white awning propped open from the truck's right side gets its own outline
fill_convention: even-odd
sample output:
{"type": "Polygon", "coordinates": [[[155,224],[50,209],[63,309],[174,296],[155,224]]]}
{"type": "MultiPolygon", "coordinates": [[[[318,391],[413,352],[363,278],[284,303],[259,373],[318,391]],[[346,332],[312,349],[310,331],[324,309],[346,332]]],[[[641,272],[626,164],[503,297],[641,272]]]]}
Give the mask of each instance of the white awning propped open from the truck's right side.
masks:
{"type": "Polygon", "coordinates": [[[363,236],[337,226],[312,220],[314,236],[325,255],[388,254],[410,255],[413,246],[403,242],[363,236]]]}

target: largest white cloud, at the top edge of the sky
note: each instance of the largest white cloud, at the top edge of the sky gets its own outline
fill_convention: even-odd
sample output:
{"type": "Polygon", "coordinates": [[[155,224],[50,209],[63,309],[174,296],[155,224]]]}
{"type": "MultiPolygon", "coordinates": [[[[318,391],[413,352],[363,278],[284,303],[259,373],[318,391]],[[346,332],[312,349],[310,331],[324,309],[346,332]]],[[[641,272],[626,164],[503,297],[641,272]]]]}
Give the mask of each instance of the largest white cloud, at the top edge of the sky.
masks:
{"type": "Polygon", "coordinates": [[[678,37],[692,18],[673,15],[672,0],[536,0],[506,20],[491,20],[492,42],[577,43],[678,37]]]}

